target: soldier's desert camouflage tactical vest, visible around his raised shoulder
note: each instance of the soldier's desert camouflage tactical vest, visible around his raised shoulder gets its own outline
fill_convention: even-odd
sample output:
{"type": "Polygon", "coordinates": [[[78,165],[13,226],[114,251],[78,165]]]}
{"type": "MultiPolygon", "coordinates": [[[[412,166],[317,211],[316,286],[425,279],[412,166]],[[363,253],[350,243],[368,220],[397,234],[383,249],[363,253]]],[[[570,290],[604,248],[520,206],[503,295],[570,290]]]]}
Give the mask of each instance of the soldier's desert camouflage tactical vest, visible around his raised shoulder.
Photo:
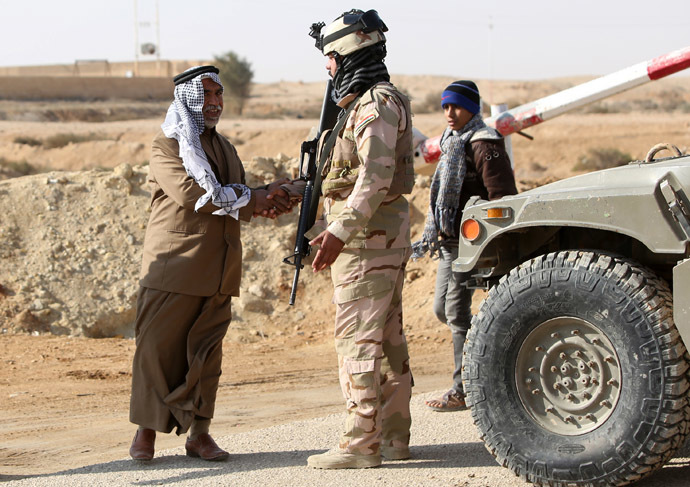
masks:
{"type": "Polygon", "coordinates": [[[351,189],[357,181],[361,161],[355,143],[355,121],[361,106],[375,103],[377,107],[385,103],[384,97],[396,97],[404,107],[405,130],[398,133],[395,144],[395,172],[388,190],[388,196],[409,194],[414,186],[414,150],[412,147],[412,110],[410,102],[401,96],[389,83],[380,83],[367,90],[353,103],[349,120],[345,123],[333,147],[329,162],[322,172],[321,191],[324,196],[336,196],[343,190],[351,189]]]}

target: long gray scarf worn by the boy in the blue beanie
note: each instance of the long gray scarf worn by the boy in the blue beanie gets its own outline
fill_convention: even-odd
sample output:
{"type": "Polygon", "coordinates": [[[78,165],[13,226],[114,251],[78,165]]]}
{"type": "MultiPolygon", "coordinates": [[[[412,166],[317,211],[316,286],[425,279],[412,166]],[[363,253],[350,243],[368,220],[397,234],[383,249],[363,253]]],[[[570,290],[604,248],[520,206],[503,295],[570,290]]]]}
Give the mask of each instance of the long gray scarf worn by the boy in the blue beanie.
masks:
{"type": "Polygon", "coordinates": [[[474,133],[484,127],[486,124],[479,112],[461,130],[451,130],[448,127],[443,132],[441,160],[431,180],[424,234],[421,240],[412,244],[413,258],[422,257],[427,251],[434,257],[439,249],[441,233],[457,237],[454,223],[460,209],[460,190],[467,172],[465,147],[474,133]]]}

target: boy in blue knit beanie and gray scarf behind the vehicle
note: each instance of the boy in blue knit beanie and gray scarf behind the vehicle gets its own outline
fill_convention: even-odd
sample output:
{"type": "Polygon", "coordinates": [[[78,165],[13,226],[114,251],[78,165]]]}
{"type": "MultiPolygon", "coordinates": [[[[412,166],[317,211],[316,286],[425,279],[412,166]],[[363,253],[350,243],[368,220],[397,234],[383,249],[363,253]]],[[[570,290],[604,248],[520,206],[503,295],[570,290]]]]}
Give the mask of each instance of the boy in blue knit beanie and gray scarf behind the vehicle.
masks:
{"type": "Polygon", "coordinates": [[[517,193],[503,136],[482,120],[477,85],[469,80],[451,83],[441,95],[448,127],[441,136],[441,160],[431,182],[429,212],[422,240],[413,244],[413,258],[438,253],[434,313],[451,329],[455,370],[453,387],[426,401],[434,411],[466,409],[462,387],[462,353],[472,319],[469,274],[453,272],[465,203],[473,195],[497,199],[517,193]]]}

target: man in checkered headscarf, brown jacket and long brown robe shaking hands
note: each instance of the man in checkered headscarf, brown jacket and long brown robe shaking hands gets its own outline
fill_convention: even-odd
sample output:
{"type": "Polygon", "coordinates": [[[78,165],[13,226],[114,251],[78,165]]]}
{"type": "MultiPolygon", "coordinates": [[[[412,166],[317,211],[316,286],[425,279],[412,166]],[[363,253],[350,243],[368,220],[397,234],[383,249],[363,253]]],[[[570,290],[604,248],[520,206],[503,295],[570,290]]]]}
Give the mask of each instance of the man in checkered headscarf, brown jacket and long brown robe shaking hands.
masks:
{"type": "Polygon", "coordinates": [[[239,295],[240,222],[289,211],[284,180],[250,189],[237,151],[215,129],[223,86],[214,66],[175,78],[175,100],[152,146],[151,216],[137,300],[130,455],[151,460],[156,432],[190,430],[187,455],[225,460],[209,435],[222,340],[239,295]]]}

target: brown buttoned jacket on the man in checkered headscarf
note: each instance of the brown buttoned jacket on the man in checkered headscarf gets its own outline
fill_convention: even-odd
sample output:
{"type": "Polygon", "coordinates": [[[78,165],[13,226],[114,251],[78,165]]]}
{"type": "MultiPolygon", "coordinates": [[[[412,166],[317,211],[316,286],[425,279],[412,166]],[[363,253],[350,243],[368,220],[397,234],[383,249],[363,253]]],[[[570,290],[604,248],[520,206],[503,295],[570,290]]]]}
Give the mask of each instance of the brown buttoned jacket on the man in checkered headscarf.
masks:
{"type": "MultiPolygon", "coordinates": [[[[221,184],[245,182],[244,168],[232,144],[215,130],[201,145],[221,184]]],[[[205,191],[187,175],[177,140],[159,132],[153,139],[149,183],[151,216],[146,228],[141,285],[192,296],[216,293],[239,296],[242,276],[240,222],[212,213],[211,202],[198,212],[194,204],[205,191]]],[[[249,221],[256,199],[240,210],[249,221]]]]}

